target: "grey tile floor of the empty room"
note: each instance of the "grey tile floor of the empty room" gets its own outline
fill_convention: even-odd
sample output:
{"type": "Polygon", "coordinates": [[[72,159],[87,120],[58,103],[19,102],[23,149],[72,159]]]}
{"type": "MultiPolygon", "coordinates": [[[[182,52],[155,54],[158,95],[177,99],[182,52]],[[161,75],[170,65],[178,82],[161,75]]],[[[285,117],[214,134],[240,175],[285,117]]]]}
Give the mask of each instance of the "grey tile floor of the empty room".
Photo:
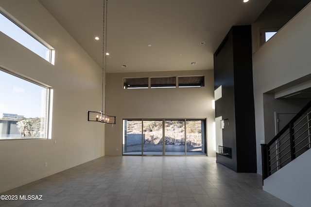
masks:
{"type": "Polygon", "coordinates": [[[290,207],[205,156],[105,156],[0,194],[42,195],[1,207],[290,207]]]}

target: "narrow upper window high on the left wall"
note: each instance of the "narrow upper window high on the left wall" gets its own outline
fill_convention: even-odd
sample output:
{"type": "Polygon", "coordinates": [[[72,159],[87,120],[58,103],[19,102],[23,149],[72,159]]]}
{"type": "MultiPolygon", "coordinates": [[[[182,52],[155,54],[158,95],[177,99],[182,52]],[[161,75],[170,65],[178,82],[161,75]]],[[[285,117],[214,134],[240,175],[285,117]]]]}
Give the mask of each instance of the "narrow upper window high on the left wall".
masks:
{"type": "Polygon", "coordinates": [[[42,44],[38,37],[35,38],[25,30],[21,29],[17,24],[0,13],[0,31],[9,36],[17,43],[23,45],[41,58],[54,64],[55,51],[45,44],[42,44]]]}

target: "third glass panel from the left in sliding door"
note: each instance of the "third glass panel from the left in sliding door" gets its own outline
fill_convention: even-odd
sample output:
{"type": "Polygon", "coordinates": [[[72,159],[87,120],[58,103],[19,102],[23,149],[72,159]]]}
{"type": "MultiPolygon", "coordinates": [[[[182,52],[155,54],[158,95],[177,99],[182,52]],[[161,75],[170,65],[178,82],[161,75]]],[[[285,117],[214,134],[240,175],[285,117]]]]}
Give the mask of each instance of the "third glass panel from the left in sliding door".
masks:
{"type": "Polygon", "coordinates": [[[165,155],[185,155],[185,120],[165,120],[165,155]]]}

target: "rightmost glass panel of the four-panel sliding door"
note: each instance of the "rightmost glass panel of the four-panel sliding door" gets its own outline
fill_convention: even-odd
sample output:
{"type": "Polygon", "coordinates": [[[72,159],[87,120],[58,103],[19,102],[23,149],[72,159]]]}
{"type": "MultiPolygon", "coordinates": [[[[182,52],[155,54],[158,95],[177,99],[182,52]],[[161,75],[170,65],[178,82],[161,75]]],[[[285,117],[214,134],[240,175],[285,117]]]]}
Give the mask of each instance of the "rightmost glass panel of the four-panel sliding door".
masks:
{"type": "Polygon", "coordinates": [[[187,120],[187,155],[205,155],[205,120],[187,120]]]}

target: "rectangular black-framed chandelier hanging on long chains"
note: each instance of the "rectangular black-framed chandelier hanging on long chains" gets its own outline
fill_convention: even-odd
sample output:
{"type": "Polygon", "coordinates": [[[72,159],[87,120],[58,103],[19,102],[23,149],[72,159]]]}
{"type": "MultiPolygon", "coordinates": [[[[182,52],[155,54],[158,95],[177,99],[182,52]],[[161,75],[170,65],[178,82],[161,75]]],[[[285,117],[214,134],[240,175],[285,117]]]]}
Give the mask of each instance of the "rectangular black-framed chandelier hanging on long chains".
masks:
{"type": "Polygon", "coordinates": [[[104,124],[115,124],[116,117],[106,115],[106,71],[107,71],[107,8],[108,0],[103,7],[103,56],[102,56],[102,110],[87,111],[87,121],[97,121],[104,124]],[[104,100],[104,101],[103,101],[104,100]]]}

